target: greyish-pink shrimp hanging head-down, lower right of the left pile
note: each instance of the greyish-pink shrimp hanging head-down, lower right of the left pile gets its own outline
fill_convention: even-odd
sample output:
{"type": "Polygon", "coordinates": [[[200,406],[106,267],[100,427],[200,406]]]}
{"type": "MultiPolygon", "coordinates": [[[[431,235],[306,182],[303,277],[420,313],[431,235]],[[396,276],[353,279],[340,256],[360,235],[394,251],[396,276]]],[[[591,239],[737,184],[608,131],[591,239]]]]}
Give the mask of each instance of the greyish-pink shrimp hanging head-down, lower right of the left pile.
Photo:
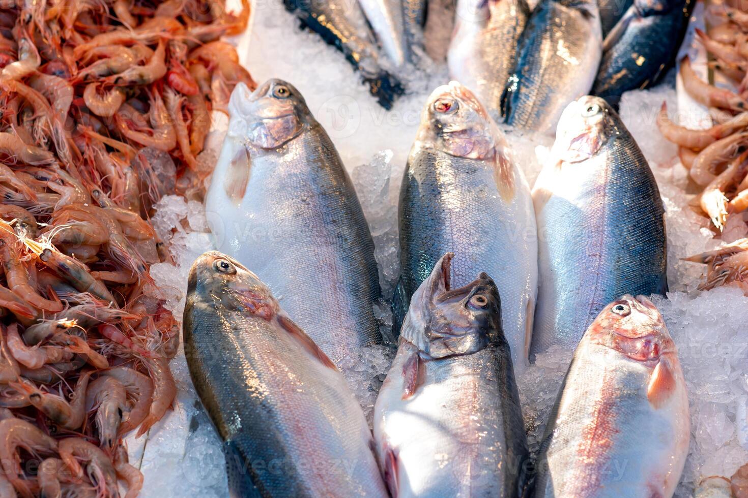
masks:
{"type": "Polygon", "coordinates": [[[96,410],[96,429],[101,446],[112,449],[117,443],[117,431],[126,408],[125,387],[112,376],[102,376],[91,382],[86,393],[86,411],[96,410]]]}

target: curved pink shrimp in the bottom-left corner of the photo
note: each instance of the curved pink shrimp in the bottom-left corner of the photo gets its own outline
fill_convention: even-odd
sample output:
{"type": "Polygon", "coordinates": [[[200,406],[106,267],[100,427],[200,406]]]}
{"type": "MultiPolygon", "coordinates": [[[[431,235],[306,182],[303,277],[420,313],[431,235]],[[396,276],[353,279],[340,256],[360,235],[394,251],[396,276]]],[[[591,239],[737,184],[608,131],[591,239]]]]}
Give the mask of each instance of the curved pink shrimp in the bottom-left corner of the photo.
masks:
{"type": "Polygon", "coordinates": [[[5,477],[24,497],[31,497],[28,483],[21,478],[21,458],[18,449],[22,448],[32,455],[52,455],[58,449],[58,443],[40,431],[31,423],[19,418],[0,420],[0,464],[5,477]]]}

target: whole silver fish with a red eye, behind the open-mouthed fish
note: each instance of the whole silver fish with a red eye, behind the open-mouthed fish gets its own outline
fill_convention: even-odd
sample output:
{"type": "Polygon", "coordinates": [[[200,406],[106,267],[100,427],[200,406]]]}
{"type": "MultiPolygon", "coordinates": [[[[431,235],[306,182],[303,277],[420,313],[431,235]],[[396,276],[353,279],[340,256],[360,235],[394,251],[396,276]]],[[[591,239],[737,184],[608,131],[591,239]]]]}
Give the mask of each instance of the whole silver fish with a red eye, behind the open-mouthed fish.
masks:
{"type": "Polygon", "coordinates": [[[484,270],[496,282],[504,335],[524,367],[538,274],[530,188],[506,138],[456,81],[434,90],[423,109],[400,188],[399,237],[396,323],[441,255],[456,252],[457,285],[484,270]]]}

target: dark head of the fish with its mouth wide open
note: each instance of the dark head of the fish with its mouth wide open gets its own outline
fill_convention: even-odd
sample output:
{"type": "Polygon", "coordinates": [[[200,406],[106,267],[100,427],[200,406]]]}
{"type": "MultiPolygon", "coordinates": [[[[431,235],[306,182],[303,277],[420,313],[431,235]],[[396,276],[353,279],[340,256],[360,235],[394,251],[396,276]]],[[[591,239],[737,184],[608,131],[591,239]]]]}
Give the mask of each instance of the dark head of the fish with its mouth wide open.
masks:
{"type": "Polygon", "coordinates": [[[424,358],[478,352],[502,335],[496,284],[486,273],[464,287],[450,285],[453,253],[438,261],[411,298],[401,337],[424,358]]]}

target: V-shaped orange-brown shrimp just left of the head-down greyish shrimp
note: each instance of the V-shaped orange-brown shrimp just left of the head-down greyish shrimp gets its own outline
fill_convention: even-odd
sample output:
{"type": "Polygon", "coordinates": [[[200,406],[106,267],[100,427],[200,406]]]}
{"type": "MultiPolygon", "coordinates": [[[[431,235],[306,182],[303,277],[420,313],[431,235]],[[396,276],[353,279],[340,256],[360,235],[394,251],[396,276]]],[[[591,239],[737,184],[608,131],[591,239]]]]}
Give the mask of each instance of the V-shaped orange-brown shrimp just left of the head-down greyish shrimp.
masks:
{"type": "Polygon", "coordinates": [[[62,396],[57,394],[39,390],[30,382],[12,383],[10,385],[26,393],[31,405],[34,405],[37,410],[49,417],[49,420],[64,429],[73,431],[83,425],[86,417],[86,390],[90,378],[91,372],[85,372],[79,376],[70,402],[65,401],[62,396]]]}

